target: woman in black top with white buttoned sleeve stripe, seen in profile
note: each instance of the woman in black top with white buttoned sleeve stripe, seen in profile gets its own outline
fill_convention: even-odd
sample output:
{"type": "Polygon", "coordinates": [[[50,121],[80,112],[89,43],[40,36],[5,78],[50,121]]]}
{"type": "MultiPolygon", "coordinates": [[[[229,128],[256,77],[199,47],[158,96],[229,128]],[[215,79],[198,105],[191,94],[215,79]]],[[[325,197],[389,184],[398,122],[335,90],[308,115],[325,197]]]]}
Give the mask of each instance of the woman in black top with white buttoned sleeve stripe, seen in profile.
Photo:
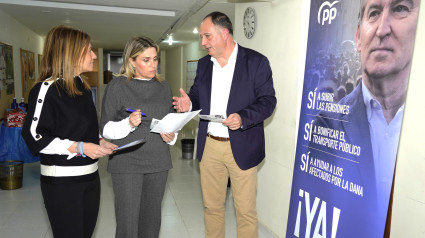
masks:
{"type": "Polygon", "coordinates": [[[80,74],[96,55],[86,33],[66,26],[46,36],[40,77],[29,94],[22,136],[40,154],[41,191],[54,237],[91,237],[100,200],[97,159],[116,145],[99,138],[90,86],[80,74]]]}

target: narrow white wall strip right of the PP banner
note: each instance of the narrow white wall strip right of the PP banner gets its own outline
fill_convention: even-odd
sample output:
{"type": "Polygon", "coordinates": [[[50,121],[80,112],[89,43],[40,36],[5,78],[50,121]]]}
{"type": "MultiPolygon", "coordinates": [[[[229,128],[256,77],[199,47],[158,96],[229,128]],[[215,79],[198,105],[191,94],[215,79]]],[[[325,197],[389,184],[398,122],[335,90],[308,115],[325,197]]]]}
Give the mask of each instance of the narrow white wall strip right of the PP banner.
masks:
{"type": "Polygon", "coordinates": [[[391,237],[425,236],[425,2],[419,12],[397,158],[391,237]]]}

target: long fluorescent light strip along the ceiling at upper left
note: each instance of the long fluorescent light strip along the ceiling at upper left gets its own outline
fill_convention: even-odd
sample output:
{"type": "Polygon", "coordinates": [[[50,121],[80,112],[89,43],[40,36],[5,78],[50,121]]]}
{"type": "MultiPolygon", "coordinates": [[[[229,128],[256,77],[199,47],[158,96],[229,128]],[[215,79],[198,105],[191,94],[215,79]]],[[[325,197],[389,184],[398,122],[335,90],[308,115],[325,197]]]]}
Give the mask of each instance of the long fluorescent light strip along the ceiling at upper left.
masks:
{"type": "Polygon", "coordinates": [[[167,16],[167,17],[176,16],[176,13],[174,11],[152,10],[152,9],[143,9],[143,8],[128,8],[128,7],[110,7],[110,6],[90,5],[90,4],[31,1],[31,0],[0,0],[0,3],[12,4],[12,5],[34,6],[34,7],[49,7],[49,8],[62,8],[62,9],[73,9],[73,10],[84,10],[84,11],[96,11],[96,12],[114,12],[114,13],[155,15],[155,16],[167,16]]]}

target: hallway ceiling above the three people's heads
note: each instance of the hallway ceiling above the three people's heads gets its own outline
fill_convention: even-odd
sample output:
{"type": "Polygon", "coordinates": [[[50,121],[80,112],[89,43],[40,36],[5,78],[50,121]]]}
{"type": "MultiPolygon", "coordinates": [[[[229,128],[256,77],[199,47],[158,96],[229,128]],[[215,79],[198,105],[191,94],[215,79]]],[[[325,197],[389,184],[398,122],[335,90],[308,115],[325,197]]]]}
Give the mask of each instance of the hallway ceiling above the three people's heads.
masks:
{"type": "MultiPolygon", "coordinates": [[[[199,23],[210,12],[234,19],[235,0],[0,0],[0,9],[36,34],[59,24],[87,32],[93,48],[122,50],[127,40],[144,35],[161,49],[199,40],[199,23]],[[176,42],[167,40],[172,34],[176,42]]],[[[238,1],[236,1],[238,2],[238,1]]]]}

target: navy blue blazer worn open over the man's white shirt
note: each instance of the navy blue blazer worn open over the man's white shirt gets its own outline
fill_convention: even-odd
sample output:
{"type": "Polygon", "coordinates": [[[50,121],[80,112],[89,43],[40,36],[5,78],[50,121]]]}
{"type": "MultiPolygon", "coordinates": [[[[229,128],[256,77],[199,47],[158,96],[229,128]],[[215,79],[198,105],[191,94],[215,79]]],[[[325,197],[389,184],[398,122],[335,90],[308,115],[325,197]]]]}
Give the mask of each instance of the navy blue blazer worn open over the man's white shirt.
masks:
{"type": "MultiPolygon", "coordinates": [[[[198,61],[196,77],[189,97],[192,110],[210,114],[213,62],[207,55],[198,61]]],[[[227,116],[238,113],[242,128],[229,129],[230,144],[236,163],[242,170],[257,166],[265,157],[264,123],[276,107],[273,77],[268,59],[239,45],[227,105],[227,116]]],[[[199,122],[197,157],[202,159],[208,121],[199,122]]]]}

